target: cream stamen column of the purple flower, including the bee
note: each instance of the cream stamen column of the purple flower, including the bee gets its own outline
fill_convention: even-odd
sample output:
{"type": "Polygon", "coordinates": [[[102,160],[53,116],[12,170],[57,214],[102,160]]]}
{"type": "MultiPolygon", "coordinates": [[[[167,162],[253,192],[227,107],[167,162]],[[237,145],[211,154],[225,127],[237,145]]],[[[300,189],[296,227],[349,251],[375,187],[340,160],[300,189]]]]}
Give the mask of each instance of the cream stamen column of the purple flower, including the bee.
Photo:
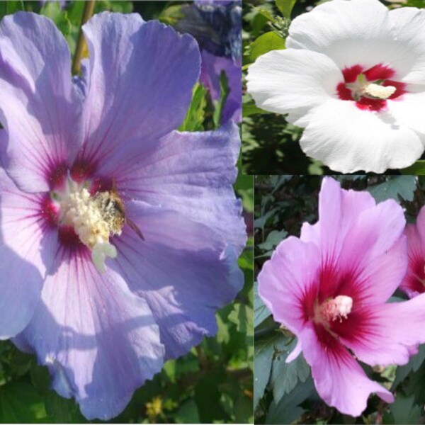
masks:
{"type": "Polygon", "coordinates": [[[74,228],[80,241],[91,249],[91,259],[98,271],[104,272],[106,257],[117,256],[109,237],[121,234],[125,223],[118,195],[110,191],[91,195],[86,184],[68,178],[64,190],[53,193],[52,198],[59,204],[59,225],[74,228]]]}

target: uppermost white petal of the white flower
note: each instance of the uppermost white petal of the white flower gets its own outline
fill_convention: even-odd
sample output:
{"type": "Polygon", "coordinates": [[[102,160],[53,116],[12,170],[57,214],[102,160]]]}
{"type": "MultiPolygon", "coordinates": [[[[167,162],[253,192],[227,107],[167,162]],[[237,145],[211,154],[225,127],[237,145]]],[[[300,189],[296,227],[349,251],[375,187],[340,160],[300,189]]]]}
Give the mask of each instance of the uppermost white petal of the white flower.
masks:
{"type": "Polygon", "coordinates": [[[293,20],[286,46],[329,56],[341,68],[389,65],[407,74],[415,55],[397,40],[387,8],[378,0],[333,0],[293,20]]]}

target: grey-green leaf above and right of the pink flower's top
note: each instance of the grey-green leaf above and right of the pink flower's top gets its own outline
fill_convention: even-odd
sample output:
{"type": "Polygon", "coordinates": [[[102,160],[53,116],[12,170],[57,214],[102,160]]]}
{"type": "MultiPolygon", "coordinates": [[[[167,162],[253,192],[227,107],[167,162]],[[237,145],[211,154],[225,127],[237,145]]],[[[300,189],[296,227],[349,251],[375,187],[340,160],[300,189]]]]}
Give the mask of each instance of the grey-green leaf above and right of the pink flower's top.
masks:
{"type": "Polygon", "coordinates": [[[393,179],[379,183],[368,188],[376,202],[382,200],[395,199],[399,202],[400,198],[404,200],[413,200],[416,190],[415,176],[395,176],[393,179]]]}

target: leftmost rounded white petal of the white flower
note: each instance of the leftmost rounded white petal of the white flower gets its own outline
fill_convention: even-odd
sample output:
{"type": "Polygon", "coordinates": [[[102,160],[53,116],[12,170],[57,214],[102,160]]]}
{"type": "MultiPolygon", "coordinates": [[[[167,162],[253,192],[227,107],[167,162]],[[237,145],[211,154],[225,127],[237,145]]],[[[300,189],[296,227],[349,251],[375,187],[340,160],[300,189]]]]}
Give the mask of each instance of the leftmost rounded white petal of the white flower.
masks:
{"type": "Polygon", "coordinates": [[[300,118],[314,106],[336,97],[344,81],[329,57],[308,50],[272,50],[249,67],[247,88],[256,105],[300,118]]]}

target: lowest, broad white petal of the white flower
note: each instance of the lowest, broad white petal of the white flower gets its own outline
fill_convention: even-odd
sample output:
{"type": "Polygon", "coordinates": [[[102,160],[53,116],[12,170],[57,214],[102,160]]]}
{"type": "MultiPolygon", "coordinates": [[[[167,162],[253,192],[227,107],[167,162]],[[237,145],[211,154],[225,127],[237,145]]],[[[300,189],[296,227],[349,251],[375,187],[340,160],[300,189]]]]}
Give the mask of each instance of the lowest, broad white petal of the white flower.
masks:
{"type": "Polygon", "coordinates": [[[423,139],[388,112],[331,99],[316,108],[300,145],[334,171],[383,173],[412,165],[424,152],[423,139]]]}

